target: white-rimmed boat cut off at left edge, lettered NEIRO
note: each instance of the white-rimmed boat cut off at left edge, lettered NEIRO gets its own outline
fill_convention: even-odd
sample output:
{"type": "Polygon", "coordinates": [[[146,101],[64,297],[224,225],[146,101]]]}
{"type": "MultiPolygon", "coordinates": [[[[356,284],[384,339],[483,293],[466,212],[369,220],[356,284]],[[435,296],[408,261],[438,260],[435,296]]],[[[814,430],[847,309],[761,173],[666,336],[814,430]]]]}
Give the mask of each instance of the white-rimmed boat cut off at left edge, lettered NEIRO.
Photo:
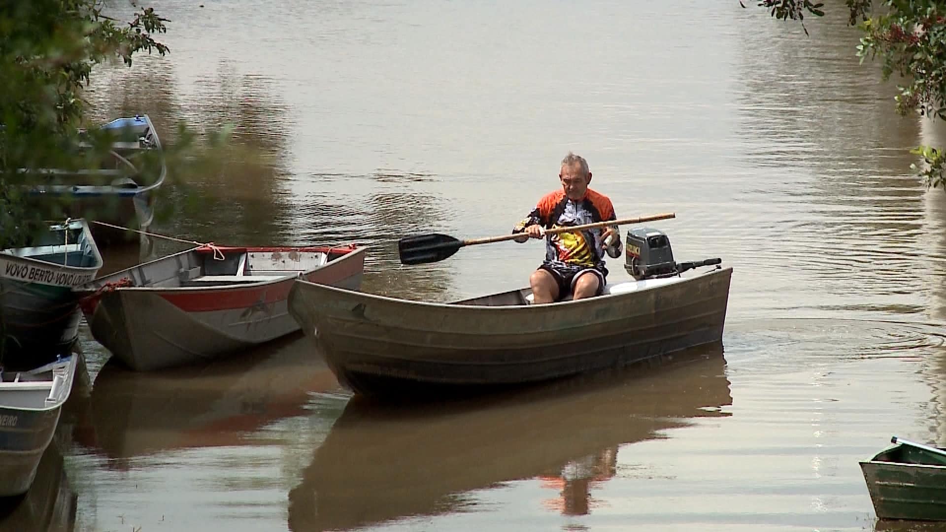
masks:
{"type": "Polygon", "coordinates": [[[69,399],[79,355],[0,380],[0,497],[25,493],[69,399]]]}

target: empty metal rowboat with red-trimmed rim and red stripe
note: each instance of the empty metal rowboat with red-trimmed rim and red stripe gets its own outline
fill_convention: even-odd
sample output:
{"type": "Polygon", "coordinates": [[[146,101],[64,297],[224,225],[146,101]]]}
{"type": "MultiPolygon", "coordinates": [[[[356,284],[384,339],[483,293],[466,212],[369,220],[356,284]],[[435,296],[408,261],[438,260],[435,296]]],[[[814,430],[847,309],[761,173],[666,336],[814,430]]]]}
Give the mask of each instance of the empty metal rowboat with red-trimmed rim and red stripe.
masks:
{"type": "Polygon", "coordinates": [[[299,329],[296,279],[359,290],[365,247],[201,246],[77,289],[92,335],[138,371],[194,364],[299,329]]]}

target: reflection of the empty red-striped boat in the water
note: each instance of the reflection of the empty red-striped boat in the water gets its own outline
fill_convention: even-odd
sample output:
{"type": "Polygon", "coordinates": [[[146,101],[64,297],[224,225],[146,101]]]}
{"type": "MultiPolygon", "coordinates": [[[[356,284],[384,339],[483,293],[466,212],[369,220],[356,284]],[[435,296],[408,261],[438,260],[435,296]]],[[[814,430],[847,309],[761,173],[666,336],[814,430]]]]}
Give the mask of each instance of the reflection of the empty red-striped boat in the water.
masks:
{"type": "Polygon", "coordinates": [[[80,443],[123,459],[185,448],[258,445],[252,432],[303,415],[311,392],[339,389],[301,333],[212,364],[142,373],[110,361],[92,391],[80,443]]]}

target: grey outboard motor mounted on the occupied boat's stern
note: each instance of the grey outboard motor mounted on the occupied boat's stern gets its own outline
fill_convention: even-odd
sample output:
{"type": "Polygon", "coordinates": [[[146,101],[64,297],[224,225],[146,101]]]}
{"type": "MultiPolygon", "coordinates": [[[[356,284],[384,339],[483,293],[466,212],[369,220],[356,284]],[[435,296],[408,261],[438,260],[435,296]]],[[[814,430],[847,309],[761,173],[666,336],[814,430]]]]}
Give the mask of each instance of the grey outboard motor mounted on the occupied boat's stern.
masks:
{"type": "Polygon", "coordinates": [[[719,264],[720,258],[708,258],[695,262],[674,261],[670,239],[663,231],[650,227],[631,229],[627,232],[624,249],[624,269],[637,280],[652,277],[680,275],[687,270],[719,264]]]}

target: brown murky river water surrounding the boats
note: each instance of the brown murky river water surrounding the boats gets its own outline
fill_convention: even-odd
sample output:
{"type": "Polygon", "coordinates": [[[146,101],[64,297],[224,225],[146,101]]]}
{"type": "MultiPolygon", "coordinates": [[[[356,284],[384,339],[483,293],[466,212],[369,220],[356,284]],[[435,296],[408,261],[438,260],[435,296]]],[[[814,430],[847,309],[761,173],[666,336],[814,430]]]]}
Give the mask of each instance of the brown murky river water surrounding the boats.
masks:
{"type": "Polygon", "coordinates": [[[574,150],[619,216],[676,213],[677,259],[733,265],[725,352],[407,409],[350,400],[299,338],[144,375],[86,335],[61,451],[0,528],[910,528],[857,462],[946,444],[946,194],[907,153],[946,134],[894,113],[840,3],[811,38],[735,1],[200,5],[162,3],[172,54],[103,68],[96,114],[232,122],[260,156],[169,186],[153,230],[376,244],[374,293],[510,290],[534,242],[402,267],[394,241],[506,233],[574,150]]]}

